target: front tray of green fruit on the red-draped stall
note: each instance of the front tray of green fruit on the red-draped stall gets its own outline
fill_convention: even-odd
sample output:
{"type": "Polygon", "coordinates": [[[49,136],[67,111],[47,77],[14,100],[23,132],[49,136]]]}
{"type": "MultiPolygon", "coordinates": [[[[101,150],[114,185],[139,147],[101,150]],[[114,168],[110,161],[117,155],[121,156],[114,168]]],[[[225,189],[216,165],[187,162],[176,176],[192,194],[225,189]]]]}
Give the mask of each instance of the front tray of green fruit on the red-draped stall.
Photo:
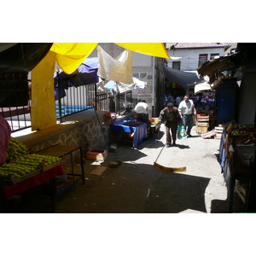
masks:
{"type": "Polygon", "coordinates": [[[38,170],[42,162],[44,162],[44,166],[50,166],[60,161],[61,158],[55,156],[26,154],[24,156],[20,156],[9,164],[3,164],[3,166],[0,166],[0,176],[7,178],[9,174],[13,174],[15,175],[15,178],[21,177],[38,170]]]}

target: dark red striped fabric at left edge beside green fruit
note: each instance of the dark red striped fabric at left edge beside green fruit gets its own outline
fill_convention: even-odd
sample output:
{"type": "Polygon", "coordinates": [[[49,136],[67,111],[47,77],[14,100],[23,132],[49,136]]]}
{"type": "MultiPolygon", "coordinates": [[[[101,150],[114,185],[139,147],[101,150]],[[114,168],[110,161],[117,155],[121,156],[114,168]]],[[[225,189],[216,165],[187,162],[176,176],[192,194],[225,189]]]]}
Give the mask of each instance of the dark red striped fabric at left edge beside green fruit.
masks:
{"type": "Polygon", "coordinates": [[[5,163],[5,154],[9,147],[11,129],[7,120],[0,115],[0,166],[5,163]]]}

